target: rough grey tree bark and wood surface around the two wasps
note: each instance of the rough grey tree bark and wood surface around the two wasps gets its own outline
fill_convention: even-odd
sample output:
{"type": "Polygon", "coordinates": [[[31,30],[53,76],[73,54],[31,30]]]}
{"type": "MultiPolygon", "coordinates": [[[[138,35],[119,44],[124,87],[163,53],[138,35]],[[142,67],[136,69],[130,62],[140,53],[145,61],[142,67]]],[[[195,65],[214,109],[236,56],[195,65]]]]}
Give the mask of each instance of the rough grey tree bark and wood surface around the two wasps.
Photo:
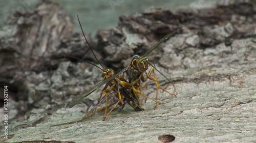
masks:
{"type": "MultiPolygon", "coordinates": [[[[58,4],[41,1],[34,11],[16,13],[1,31],[1,85],[9,88],[9,136],[6,142],[255,142],[256,4],[255,1],[190,8],[154,7],[120,16],[110,30],[88,38],[105,67],[120,70],[164,35],[183,26],[148,58],[158,72],[159,105],[143,99],[145,109],[114,110],[106,122],[97,113],[77,121],[97,101],[100,90],[67,108],[82,91],[102,81],[101,71],[62,53],[95,61],[81,34],[58,4]],[[57,52],[59,54],[54,54],[57,52]],[[64,56],[60,56],[60,54],[64,56]],[[159,139],[159,140],[158,140],[159,139]]],[[[155,84],[142,92],[156,98],[155,84]]],[[[1,88],[2,88],[1,87],[1,88]]],[[[1,92],[3,93],[3,92],[1,92]]],[[[3,128],[1,127],[1,132],[3,128]]],[[[2,134],[3,135],[3,134],[2,134]]]]}

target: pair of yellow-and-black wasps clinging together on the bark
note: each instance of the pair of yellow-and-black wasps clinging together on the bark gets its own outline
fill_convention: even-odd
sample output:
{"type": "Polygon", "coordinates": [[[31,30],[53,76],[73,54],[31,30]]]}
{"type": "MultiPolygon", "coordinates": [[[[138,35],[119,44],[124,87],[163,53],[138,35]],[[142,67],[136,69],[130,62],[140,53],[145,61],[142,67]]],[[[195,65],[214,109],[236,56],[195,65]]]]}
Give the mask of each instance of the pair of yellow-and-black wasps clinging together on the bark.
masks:
{"type": "MultiPolygon", "coordinates": [[[[79,21],[78,16],[77,16],[77,18],[79,21]]],[[[79,24],[80,24],[80,21],[79,21],[79,24]]],[[[81,24],[80,24],[80,27],[81,27],[81,24]]],[[[179,29],[180,28],[178,28],[178,30],[179,29]]],[[[81,30],[82,30],[82,27],[81,27],[81,30]]],[[[142,111],[144,109],[140,107],[140,101],[139,101],[140,94],[155,101],[156,102],[155,107],[157,107],[157,105],[160,104],[158,102],[158,89],[160,88],[165,92],[167,92],[167,91],[159,85],[155,71],[154,71],[155,68],[151,65],[150,60],[148,58],[146,58],[146,56],[149,53],[151,53],[154,49],[156,49],[161,43],[166,41],[169,37],[173,36],[178,30],[163,37],[159,42],[157,42],[150,49],[148,49],[141,57],[134,56],[130,66],[122,69],[118,73],[114,74],[114,71],[112,69],[105,69],[105,68],[101,69],[103,71],[102,77],[104,78],[104,80],[101,81],[100,83],[96,84],[90,90],[83,92],[69,106],[70,108],[75,106],[80,101],[82,101],[84,98],[89,96],[91,93],[93,93],[94,91],[96,91],[97,89],[102,87],[102,85],[106,84],[105,87],[103,88],[103,90],[101,91],[101,95],[98,99],[98,103],[86,114],[86,116],[84,116],[78,122],[84,121],[85,119],[93,116],[96,112],[101,112],[101,111],[105,110],[105,114],[103,117],[103,121],[104,121],[106,119],[106,117],[108,117],[108,115],[112,112],[112,110],[117,107],[117,105],[119,105],[123,108],[126,103],[128,103],[130,106],[132,106],[135,109],[135,111],[142,111]],[[152,66],[152,68],[147,73],[147,69],[150,65],[152,66]],[[124,79],[123,73],[125,71],[128,72],[129,81],[124,79]],[[151,76],[152,73],[154,74],[154,77],[151,76]],[[121,74],[123,74],[122,77],[119,76],[121,74]],[[145,74],[145,76],[144,76],[144,74],[145,74]],[[145,82],[147,79],[155,81],[156,100],[144,95],[140,91],[141,82],[145,82]],[[104,96],[102,97],[102,95],[104,95],[104,96]],[[114,98],[116,98],[117,101],[110,104],[110,102],[114,98]],[[103,104],[104,104],[104,106],[102,108],[98,109],[98,107],[100,107],[103,104]],[[108,104],[110,104],[110,105],[108,105],[108,104]],[[112,109],[110,111],[107,111],[107,109],[111,106],[113,106],[112,109]]],[[[82,34],[84,36],[83,30],[82,30],[82,34]]],[[[84,38],[86,39],[85,36],[84,36],[84,38]]],[[[91,49],[90,44],[88,43],[87,39],[86,39],[86,42],[89,45],[89,48],[91,49]]],[[[92,49],[91,49],[91,51],[93,52],[92,49]]],[[[95,56],[95,58],[96,58],[96,56],[95,56]]],[[[96,60],[97,60],[97,58],[96,58],[96,60]]],[[[175,94],[171,94],[169,92],[167,92],[167,93],[170,95],[176,96],[175,94]]]]}

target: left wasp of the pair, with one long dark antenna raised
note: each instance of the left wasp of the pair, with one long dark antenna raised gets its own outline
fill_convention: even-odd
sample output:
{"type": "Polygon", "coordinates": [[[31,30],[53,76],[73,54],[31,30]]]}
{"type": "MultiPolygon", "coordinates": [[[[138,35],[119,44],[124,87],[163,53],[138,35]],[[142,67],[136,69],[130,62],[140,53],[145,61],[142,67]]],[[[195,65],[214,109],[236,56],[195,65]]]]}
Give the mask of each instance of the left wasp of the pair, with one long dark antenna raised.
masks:
{"type": "MultiPolygon", "coordinates": [[[[77,18],[78,18],[78,21],[79,21],[78,16],[77,16],[77,18]]],[[[80,24],[80,27],[81,27],[81,30],[82,30],[82,26],[81,26],[80,21],[79,21],[79,24],[80,24]]],[[[82,30],[82,34],[84,36],[84,39],[86,39],[86,36],[84,35],[83,30],[82,30]]],[[[87,39],[86,39],[86,42],[87,42],[89,48],[91,49],[91,46],[90,46],[89,42],[87,41],[87,39]]],[[[93,52],[92,49],[91,49],[91,51],[93,52]]],[[[93,55],[95,56],[94,52],[93,52],[93,55]]],[[[96,56],[95,56],[95,58],[96,58],[96,56]]],[[[96,60],[97,60],[97,58],[96,58],[96,60]]],[[[99,61],[98,61],[98,63],[99,63],[99,61]]],[[[94,65],[94,66],[96,66],[96,65],[94,65]]],[[[96,66],[96,67],[98,67],[98,66],[96,66]]],[[[100,68],[100,67],[98,67],[98,68],[100,68]]],[[[132,89],[133,89],[132,84],[130,84],[127,80],[125,80],[123,77],[121,77],[119,75],[115,76],[114,75],[115,72],[112,69],[103,68],[101,70],[102,70],[102,77],[103,77],[104,80],[102,82],[100,82],[99,84],[95,85],[95,87],[93,87],[89,91],[86,91],[86,92],[82,93],[70,105],[70,108],[75,106],[77,103],[79,103],[81,100],[86,98],[89,94],[91,94],[92,92],[97,90],[103,84],[106,84],[105,87],[103,88],[103,90],[101,91],[98,103],[87,113],[86,116],[84,116],[80,120],[80,122],[87,119],[88,117],[93,116],[95,114],[95,112],[100,112],[100,111],[105,110],[105,115],[103,117],[103,121],[104,121],[106,119],[106,117],[108,117],[108,115],[112,112],[112,110],[117,105],[119,105],[123,108],[126,103],[128,103],[130,106],[132,106],[135,111],[144,110],[139,105],[139,101],[137,100],[138,96],[136,95],[137,93],[132,92],[132,89]],[[114,78],[112,78],[113,76],[114,76],[114,78]],[[104,94],[104,96],[102,97],[103,94],[104,94]],[[114,97],[116,97],[118,100],[115,103],[113,103],[111,105],[108,105],[110,103],[110,101],[112,101],[114,99],[114,97]],[[105,103],[104,107],[98,109],[98,107],[101,106],[103,103],[105,103]],[[106,109],[108,109],[111,106],[113,106],[112,109],[107,113],[106,109]]]]}

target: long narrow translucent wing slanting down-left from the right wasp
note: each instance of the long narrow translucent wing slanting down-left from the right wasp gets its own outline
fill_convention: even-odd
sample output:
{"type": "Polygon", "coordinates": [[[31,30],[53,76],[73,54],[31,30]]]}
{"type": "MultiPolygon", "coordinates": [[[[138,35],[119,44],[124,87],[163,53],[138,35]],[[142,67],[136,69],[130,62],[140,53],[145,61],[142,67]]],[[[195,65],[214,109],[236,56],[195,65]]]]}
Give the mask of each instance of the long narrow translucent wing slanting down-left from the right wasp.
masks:
{"type": "Polygon", "coordinates": [[[114,74],[113,76],[99,82],[97,85],[95,85],[93,88],[91,88],[88,91],[83,92],[69,107],[72,108],[74,107],[77,103],[79,103],[80,101],[82,101],[84,98],[86,98],[88,95],[90,95],[91,93],[93,93],[94,91],[96,91],[97,89],[99,89],[102,85],[104,85],[105,83],[108,83],[110,80],[114,79],[115,77],[119,76],[121,73],[123,73],[124,71],[128,70],[130,68],[126,67],[124,69],[122,69],[121,71],[119,71],[118,73],[114,74]]]}

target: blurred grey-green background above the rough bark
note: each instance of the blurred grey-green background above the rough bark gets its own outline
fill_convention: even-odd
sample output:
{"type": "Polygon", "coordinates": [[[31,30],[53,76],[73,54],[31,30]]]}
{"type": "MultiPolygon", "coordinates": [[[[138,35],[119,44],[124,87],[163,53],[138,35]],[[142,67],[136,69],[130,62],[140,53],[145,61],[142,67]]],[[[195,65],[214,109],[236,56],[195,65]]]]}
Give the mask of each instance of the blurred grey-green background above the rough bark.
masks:
{"type": "MultiPolygon", "coordinates": [[[[100,28],[110,28],[118,24],[120,15],[131,15],[135,12],[142,12],[152,6],[162,6],[164,8],[175,8],[178,6],[189,6],[194,3],[197,7],[204,7],[208,2],[216,0],[162,0],[162,1],[137,1],[137,0],[53,0],[64,7],[74,18],[75,27],[73,32],[81,32],[76,19],[79,15],[83,30],[91,33],[94,37],[100,28]]],[[[0,26],[6,24],[8,16],[16,10],[29,10],[33,8],[37,0],[0,0],[0,26]]]]}

